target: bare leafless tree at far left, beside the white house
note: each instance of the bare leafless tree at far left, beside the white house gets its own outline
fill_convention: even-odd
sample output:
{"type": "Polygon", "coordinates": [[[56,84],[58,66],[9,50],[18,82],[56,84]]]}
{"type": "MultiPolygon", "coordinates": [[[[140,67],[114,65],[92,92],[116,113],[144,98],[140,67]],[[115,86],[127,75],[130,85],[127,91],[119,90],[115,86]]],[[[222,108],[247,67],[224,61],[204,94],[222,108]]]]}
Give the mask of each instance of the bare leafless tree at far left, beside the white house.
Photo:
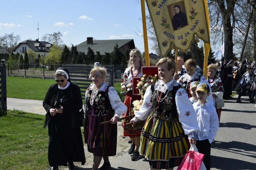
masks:
{"type": "Polygon", "coordinates": [[[13,49],[18,45],[20,41],[20,35],[11,34],[4,34],[4,36],[0,36],[0,46],[5,48],[10,54],[12,53],[13,49]]]}

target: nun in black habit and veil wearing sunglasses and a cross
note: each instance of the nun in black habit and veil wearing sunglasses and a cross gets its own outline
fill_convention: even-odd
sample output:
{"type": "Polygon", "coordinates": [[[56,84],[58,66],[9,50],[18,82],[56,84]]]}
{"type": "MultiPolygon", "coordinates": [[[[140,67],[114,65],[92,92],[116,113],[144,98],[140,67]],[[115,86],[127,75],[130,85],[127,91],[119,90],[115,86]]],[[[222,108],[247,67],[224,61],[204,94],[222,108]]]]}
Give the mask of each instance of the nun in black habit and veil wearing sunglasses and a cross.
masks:
{"type": "Polygon", "coordinates": [[[71,114],[80,111],[83,100],[80,88],[71,83],[66,68],[56,70],[55,81],[57,83],[50,86],[43,101],[46,117],[50,117],[48,161],[51,170],[58,170],[58,166],[69,166],[72,170],[73,162],[85,164],[81,128],[71,128],[71,114]]]}

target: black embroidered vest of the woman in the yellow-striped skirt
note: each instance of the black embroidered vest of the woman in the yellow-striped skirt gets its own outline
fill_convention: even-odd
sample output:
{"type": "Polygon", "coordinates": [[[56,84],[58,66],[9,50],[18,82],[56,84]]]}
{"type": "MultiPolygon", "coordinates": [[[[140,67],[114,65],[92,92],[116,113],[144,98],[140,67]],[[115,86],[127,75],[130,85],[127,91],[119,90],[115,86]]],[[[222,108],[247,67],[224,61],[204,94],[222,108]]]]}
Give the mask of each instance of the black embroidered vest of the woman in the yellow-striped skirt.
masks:
{"type": "Polygon", "coordinates": [[[152,96],[152,105],[153,109],[150,112],[150,116],[154,116],[156,118],[162,118],[165,121],[176,122],[178,120],[178,113],[176,108],[175,96],[176,92],[181,86],[172,86],[170,85],[165,93],[161,93],[157,90],[156,85],[154,84],[154,91],[152,96]],[[172,88],[172,89],[171,89],[172,88]],[[168,92],[169,91],[169,92],[168,92]],[[168,93],[167,93],[168,92],[168,93]],[[168,96],[166,96],[166,94],[168,96]],[[158,96],[162,101],[158,99],[158,96]],[[166,97],[165,97],[166,96],[166,97]]]}

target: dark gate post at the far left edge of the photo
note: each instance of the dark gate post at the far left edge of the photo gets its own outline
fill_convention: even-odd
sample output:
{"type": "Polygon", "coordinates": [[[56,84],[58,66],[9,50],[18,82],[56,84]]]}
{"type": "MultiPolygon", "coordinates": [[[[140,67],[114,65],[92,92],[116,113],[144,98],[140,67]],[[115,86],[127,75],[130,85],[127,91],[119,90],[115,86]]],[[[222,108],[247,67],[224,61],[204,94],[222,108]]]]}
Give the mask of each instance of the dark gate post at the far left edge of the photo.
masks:
{"type": "MultiPolygon", "coordinates": [[[[8,63],[9,64],[9,63],[8,63]]],[[[1,110],[4,115],[7,114],[7,102],[6,102],[6,66],[2,64],[1,70],[1,110]]]]}

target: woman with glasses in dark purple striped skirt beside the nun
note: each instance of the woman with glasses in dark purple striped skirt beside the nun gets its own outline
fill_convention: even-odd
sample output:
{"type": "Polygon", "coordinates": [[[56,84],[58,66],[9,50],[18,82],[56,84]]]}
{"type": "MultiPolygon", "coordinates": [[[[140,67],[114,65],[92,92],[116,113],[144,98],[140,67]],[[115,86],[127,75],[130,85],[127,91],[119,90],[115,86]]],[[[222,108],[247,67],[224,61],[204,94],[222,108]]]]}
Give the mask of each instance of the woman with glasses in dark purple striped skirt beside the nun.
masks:
{"type": "Polygon", "coordinates": [[[106,68],[94,67],[91,72],[93,83],[85,93],[84,136],[88,151],[93,153],[93,170],[97,170],[103,157],[104,164],[100,170],[111,167],[109,156],[116,155],[117,121],[126,113],[127,107],[122,103],[114,87],[104,82],[106,68]],[[111,123],[100,124],[109,121],[111,123]]]}

